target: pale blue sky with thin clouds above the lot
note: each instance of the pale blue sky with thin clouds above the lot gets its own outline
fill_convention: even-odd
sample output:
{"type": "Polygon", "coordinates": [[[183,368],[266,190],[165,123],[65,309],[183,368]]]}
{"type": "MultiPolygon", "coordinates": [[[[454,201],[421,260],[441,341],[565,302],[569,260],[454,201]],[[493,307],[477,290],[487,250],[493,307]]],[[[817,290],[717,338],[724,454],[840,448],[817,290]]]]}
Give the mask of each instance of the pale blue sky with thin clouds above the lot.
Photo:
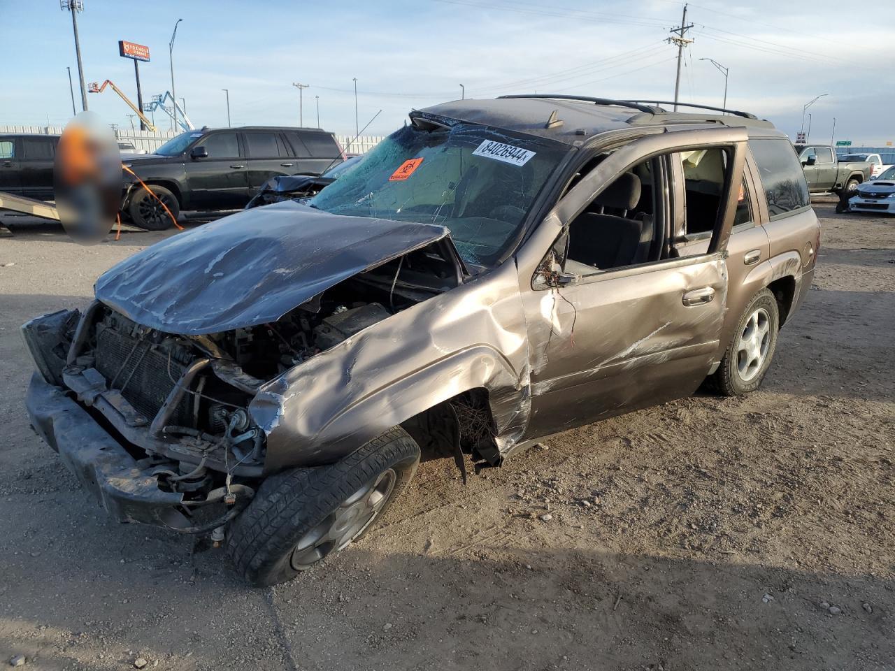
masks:
{"type": "MultiPolygon", "coordinates": [[[[507,93],[603,98],[674,97],[681,21],[674,0],[84,0],[78,14],[86,82],[114,81],[136,100],[133,63],[118,40],[149,46],[141,63],[144,102],[171,88],[197,126],[298,125],[354,135],[400,127],[407,112],[446,100],[507,93]],[[354,78],[357,79],[355,117],[354,78]],[[381,112],[379,112],[381,110],[381,112]],[[355,121],[356,119],[356,121],[355,121]]],[[[728,107],[770,119],[795,138],[805,104],[812,141],[895,140],[895,4],[841,2],[689,4],[680,100],[720,106],[729,68],[728,107]],[[872,7],[872,13],[869,8],[872,7]],[[872,20],[871,20],[872,14],[872,20]],[[863,17],[863,18],[862,18],[863,17]]],[[[58,0],[0,0],[0,124],[64,124],[81,94],[72,20],[58,0]]],[[[131,110],[111,89],[88,93],[90,109],[128,127],[131,110]]],[[[170,121],[161,113],[162,129],[170,121]]],[[[138,120],[134,120],[139,123],[138,120]]],[[[139,125],[138,125],[139,127],[139,125]]]]}

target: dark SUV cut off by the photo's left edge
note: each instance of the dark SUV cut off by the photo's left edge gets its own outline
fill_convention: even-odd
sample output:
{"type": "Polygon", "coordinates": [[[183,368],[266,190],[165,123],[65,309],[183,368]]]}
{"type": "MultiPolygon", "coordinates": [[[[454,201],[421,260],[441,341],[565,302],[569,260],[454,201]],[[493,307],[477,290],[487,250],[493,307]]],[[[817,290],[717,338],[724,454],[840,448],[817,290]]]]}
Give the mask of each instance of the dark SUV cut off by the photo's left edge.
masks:
{"type": "Polygon", "coordinates": [[[0,135],[0,191],[53,200],[53,161],[58,135],[0,135]]]}

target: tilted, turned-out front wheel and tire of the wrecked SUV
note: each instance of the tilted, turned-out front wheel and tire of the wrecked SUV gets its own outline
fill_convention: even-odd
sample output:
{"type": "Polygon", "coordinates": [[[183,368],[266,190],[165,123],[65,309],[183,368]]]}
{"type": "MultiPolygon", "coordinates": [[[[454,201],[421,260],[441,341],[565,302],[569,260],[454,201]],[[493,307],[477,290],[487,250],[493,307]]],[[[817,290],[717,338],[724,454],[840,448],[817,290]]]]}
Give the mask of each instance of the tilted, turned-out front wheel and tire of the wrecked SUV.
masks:
{"type": "Polygon", "coordinates": [[[337,463],[268,478],[233,522],[227,554],[253,585],[292,580],[369,531],[419,463],[420,446],[396,427],[337,463]]]}

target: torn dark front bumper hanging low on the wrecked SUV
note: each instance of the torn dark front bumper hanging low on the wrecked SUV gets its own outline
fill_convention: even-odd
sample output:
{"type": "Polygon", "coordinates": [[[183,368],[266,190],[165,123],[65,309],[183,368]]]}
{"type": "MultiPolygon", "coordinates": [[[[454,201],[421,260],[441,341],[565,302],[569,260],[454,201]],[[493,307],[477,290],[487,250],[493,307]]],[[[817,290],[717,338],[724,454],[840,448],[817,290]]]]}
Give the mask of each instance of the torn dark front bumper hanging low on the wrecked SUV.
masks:
{"type": "Polygon", "coordinates": [[[159,489],[158,480],[59,387],[35,373],[25,405],[40,437],[115,520],[175,530],[189,526],[179,510],[183,494],[159,489]]]}

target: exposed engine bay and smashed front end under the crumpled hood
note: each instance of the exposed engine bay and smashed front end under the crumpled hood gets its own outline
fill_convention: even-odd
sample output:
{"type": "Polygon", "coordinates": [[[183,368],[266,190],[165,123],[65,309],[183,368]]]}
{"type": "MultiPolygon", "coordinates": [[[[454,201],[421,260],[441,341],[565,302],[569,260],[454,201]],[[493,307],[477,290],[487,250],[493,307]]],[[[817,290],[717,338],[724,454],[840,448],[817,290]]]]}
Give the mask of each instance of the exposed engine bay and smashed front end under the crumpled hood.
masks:
{"type": "Polygon", "coordinates": [[[209,470],[260,475],[265,435],[248,411],[260,386],[451,285],[453,267],[424,248],[345,280],[276,322],[218,334],[168,334],[98,304],[64,379],[88,404],[90,390],[107,392],[106,403],[93,407],[125,441],[164,462],[159,473],[172,490],[207,489],[209,470]]]}

